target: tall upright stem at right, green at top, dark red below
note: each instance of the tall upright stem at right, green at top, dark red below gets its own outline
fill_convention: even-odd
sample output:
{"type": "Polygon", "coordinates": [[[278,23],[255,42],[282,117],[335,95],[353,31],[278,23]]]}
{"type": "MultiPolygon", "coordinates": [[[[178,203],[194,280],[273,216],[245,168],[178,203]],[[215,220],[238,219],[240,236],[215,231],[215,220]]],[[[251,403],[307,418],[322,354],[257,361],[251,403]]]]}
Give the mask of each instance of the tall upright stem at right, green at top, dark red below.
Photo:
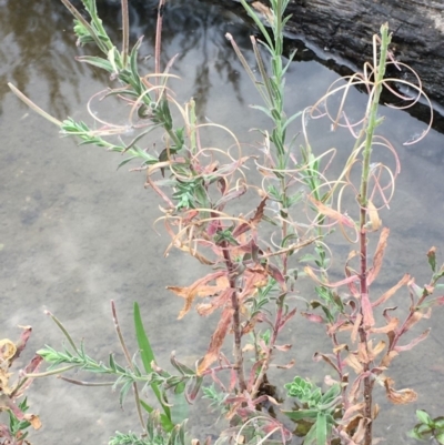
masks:
{"type": "MultiPolygon", "coordinates": [[[[363,161],[362,161],[362,176],[361,176],[361,188],[360,188],[360,196],[359,202],[361,206],[360,211],[360,252],[361,252],[361,273],[360,273],[360,291],[361,291],[361,302],[365,299],[369,299],[369,286],[367,286],[367,213],[369,213],[369,181],[370,181],[370,165],[371,165],[371,156],[372,156],[372,145],[373,145],[373,136],[375,128],[377,127],[377,109],[380,104],[380,97],[383,88],[383,80],[385,74],[385,64],[386,57],[390,43],[389,36],[389,26],[383,24],[381,27],[381,54],[380,62],[377,67],[374,67],[374,89],[373,89],[373,98],[371,98],[371,104],[369,110],[369,120],[366,122],[366,136],[365,136],[365,145],[363,150],[363,161]]],[[[360,342],[364,346],[365,351],[369,352],[369,334],[366,326],[366,316],[361,305],[361,315],[362,321],[359,328],[360,342]]],[[[364,377],[364,415],[367,419],[367,424],[365,426],[365,437],[364,445],[372,444],[372,406],[373,406],[373,385],[374,380],[370,375],[370,362],[363,364],[363,372],[366,374],[364,377]]]]}

